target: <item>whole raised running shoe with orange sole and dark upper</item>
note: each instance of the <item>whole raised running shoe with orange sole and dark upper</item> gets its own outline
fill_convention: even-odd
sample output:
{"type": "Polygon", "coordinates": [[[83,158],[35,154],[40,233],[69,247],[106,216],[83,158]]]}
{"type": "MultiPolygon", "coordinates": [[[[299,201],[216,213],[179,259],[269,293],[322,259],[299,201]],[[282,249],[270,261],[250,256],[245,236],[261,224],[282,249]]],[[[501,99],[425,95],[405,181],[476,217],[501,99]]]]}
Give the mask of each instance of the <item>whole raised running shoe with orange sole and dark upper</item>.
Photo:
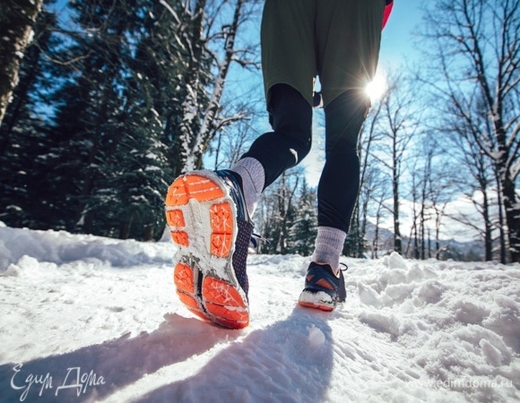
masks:
{"type": "Polygon", "coordinates": [[[195,171],[169,186],[166,219],[178,244],[173,280],[183,304],[221,326],[249,323],[247,250],[253,224],[241,178],[231,171],[195,171]]]}

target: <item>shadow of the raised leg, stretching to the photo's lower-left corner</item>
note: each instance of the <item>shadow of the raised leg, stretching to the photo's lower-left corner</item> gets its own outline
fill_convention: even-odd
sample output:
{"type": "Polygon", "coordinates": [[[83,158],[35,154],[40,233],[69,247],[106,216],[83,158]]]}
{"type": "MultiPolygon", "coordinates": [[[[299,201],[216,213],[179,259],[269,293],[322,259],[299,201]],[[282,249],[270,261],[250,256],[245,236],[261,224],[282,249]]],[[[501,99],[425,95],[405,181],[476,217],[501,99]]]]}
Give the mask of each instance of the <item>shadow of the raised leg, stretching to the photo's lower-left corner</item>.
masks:
{"type": "Polygon", "coordinates": [[[241,332],[165,315],[157,330],[82,347],[59,356],[0,365],[1,401],[71,402],[107,397],[147,373],[185,361],[241,332]]]}

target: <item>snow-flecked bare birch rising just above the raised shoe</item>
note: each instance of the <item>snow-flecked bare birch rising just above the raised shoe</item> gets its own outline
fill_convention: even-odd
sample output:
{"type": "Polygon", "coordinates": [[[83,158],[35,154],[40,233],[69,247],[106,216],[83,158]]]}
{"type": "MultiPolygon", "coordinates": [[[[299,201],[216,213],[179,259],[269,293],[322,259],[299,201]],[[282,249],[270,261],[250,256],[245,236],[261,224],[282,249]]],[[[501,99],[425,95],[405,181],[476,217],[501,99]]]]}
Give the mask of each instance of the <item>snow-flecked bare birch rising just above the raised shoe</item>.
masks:
{"type": "MultiPolygon", "coordinates": [[[[190,2],[186,2],[186,7],[190,2]]],[[[221,97],[224,84],[230,71],[230,65],[237,62],[244,66],[252,64],[254,61],[248,60],[248,49],[237,48],[238,29],[244,22],[244,16],[248,15],[247,5],[254,6],[255,1],[235,0],[228,2],[211,2],[209,0],[197,0],[193,5],[193,24],[190,37],[193,39],[193,47],[188,50],[191,53],[191,62],[185,76],[185,97],[182,104],[182,120],[179,124],[180,156],[178,165],[181,170],[193,170],[201,167],[204,151],[208,147],[209,141],[219,129],[232,122],[244,119],[246,115],[238,112],[234,116],[221,116],[221,97]],[[232,6],[231,21],[223,24],[217,29],[217,16],[221,18],[221,7],[232,6]],[[212,11],[212,13],[209,13],[212,11]],[[216,47],[221,44],[221,47],[216,47]],[[214,65],[215,75],[212,79],[211,88],[206,88],[208,103],[204,109],[200,108],[198,99],[201,86],[204,85],[202,70],[200,65],[204,63],[204,57],[210,56],[214,65]]]]}

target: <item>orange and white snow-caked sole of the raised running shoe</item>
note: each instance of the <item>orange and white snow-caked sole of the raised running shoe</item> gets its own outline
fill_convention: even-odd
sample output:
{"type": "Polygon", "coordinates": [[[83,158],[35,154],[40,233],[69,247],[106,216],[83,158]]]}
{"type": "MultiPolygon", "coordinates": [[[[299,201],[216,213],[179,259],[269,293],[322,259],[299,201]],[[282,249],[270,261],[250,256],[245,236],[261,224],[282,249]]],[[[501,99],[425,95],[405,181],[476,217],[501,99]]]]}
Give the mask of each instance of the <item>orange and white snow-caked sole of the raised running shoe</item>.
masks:
{"type": "MultiPolygon", "coordinates": [[[[169,186],[166,197],[166,219],[170,235],[180,248],[180,258],[173,280],[180,301],[195,315],[231,329],[245,328],[249,322],[247,290],[240,289],[231,272],[234,254],[234,238],[238,222],[234,216],[233,201],[218,183],[219,178],[204,174],[179,176],[169,186]],[[207,214],[209,233],[206,245],[197,253],[208,253],[208,259],[224,259],[226,270],[215,275],[209,267],[200,267],[189,248],[200,239],[200,228],[189,226],[189,217],[196,210],[207,214]],[[185,253],[185,254],[183,254],[185,253]]],[[[200,256],[199,256],[200,258],[200,256]]]]}

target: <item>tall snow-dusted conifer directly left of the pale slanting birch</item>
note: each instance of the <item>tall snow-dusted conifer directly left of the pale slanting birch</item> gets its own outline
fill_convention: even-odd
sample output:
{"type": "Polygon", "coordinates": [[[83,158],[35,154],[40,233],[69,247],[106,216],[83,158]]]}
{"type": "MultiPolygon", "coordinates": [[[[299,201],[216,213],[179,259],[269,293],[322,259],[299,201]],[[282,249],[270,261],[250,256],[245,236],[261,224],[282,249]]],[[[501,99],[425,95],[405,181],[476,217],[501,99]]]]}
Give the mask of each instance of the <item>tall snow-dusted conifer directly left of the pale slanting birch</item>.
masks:
{"type": "MultiPolygon", "coordinates": [[[[151,240],[164,227],[163,196],[173,176],[170,127],[178,121],[183,72],[174,15],[157,2],[136,13],[129,44],[134,57],[126,66],[122,98],[125,135],[117,142],[111,163],[97,185],[100,198],[92,211],[104,232],[122,238],[151,240]],[[107,222],[103,211],[110,211],[107,222]]],[[[182,10],[178,10],[182,13],[182,10]]],[[[175,15],[178,15],[177,13],[175,15]]]]}

